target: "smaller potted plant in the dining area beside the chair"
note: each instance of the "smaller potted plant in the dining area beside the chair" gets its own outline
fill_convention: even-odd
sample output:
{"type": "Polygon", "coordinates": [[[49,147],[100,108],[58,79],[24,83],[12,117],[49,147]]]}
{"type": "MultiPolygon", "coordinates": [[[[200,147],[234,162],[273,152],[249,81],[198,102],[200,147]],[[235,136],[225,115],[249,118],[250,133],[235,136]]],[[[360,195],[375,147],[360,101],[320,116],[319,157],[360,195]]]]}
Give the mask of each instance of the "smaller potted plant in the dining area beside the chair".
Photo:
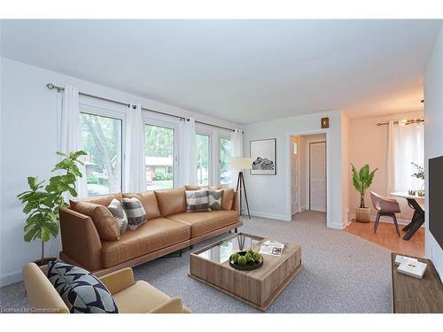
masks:
{"type": "Polygon", "coordinates": [[[369,165],[366,164],[362,166],[360,171],[357,171],[355,166],[351,164],[353,169],[353,182],[354,187],[357,189],[360,194],[360,207],[356,209],[356,217],[355,219],[360,222],[369,222],[370,221],[370,208],[366,207],[364,204],[364,194],[366,193],[366,189],[369,189],[372,180],[374,179],[374,174],[377,169],[369,172],[369,165]]]}

